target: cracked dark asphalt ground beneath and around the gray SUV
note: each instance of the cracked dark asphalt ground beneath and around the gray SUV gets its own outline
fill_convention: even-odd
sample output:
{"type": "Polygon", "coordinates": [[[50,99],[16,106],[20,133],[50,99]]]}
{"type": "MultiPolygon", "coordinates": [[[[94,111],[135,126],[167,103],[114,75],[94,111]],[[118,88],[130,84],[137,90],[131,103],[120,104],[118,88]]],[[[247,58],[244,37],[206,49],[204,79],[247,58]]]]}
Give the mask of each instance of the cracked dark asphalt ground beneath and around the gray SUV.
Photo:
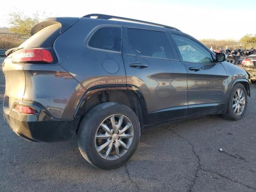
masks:
{"type": "Polygon", "coordinates": [[[0,191],[255,192],[256,84],[251,94],[242,120],[208,115],[146,130],[130,161],[105,171],[82,158],[76,137],[45,144],[16,136],[2,118],[1,69],[0,191]]]}

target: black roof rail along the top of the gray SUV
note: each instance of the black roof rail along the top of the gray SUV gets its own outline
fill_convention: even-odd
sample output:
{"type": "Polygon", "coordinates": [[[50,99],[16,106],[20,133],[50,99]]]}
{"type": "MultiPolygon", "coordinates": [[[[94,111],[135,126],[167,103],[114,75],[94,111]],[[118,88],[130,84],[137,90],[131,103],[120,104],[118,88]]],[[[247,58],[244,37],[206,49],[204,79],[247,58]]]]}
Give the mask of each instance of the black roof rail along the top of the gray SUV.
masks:
{"type": "Polygon", "coordinates": [[[142,23],[142,24],[149,24],[149,25],[154,25],[154,26],[158,26],[158,27],[164,27],[164,28],[168,28],[168,29],[173,29],[173,30],[178,30],[177,28],[174,27],[170,27],[167,25],[162,25],[162,24],[158,24],[158,23],[152,23],[152,22],[148,22],[148,21],[142,21],[142,20],[136,20],[136,19],[130,19],[130,18],[125,18],[125,17],[118,17],[118,16],[112,16],[112,15],[104,15],[104,14],[89,14],[89,15],[85,15],[83,16],[84,18],[97,18],[97,19],[118,19],[118,20],[125,20],[125,21],[132,21],[132,22],[138,22],[138,23],[142,23]]]}

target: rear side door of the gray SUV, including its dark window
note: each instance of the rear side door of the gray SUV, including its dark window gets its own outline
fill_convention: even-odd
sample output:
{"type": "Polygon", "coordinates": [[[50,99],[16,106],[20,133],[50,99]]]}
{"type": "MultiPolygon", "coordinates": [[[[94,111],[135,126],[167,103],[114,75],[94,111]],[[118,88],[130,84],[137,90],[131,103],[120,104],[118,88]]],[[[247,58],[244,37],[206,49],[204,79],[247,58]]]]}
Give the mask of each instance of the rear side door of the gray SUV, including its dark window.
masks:
{"type": "Polygon", "coordinates": [[[127,84],[138,87],[150,118],[145,124],[186,116],[186,68],[165,31],[124,27],[123,60],[127,84]]]}

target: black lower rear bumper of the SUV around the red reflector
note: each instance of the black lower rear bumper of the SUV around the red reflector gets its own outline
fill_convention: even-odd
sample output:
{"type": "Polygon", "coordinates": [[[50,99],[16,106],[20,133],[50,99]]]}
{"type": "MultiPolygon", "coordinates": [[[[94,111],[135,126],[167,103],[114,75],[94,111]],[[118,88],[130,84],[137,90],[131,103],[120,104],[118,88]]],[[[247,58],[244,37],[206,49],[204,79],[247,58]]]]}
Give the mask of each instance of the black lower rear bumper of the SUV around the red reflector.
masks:
{"type": "Polygon", "coordinates": [[[31,106],[38,112],[35,115],[24,115],[4,108],[4,119],[18,136],[34,142],[61,142],[73,138],[80,117],[70,120],[55,119],[36,102],[16,101],[15,103],[31,106]]]}

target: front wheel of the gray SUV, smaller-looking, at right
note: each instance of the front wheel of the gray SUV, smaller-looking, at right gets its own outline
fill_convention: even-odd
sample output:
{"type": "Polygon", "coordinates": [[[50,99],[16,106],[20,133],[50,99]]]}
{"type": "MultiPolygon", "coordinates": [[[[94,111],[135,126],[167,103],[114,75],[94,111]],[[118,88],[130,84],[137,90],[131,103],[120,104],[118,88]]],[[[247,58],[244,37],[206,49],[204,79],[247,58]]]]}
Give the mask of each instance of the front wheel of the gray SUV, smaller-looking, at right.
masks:
{"type": "Polygon", "coordinates": [[[236,83],[230,92],[228,106],[225,114],[222,117],[228,120],[240,120],[247,108],[247,92],[245,87],[236,83]]]}

